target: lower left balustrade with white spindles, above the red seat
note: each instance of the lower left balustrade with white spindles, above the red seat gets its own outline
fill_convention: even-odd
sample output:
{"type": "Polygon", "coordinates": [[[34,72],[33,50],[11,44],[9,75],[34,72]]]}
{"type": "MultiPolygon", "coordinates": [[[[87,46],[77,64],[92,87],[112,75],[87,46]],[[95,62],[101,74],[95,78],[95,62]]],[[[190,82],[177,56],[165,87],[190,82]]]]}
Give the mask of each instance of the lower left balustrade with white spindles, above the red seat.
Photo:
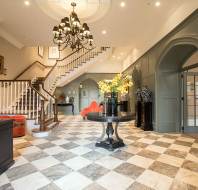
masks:
{"type": "Polygon", "coordinates": [[[0,80],[0,114],[26,115],[39,124],[42,102],[48,99],[30,80],[0,80]]]}

